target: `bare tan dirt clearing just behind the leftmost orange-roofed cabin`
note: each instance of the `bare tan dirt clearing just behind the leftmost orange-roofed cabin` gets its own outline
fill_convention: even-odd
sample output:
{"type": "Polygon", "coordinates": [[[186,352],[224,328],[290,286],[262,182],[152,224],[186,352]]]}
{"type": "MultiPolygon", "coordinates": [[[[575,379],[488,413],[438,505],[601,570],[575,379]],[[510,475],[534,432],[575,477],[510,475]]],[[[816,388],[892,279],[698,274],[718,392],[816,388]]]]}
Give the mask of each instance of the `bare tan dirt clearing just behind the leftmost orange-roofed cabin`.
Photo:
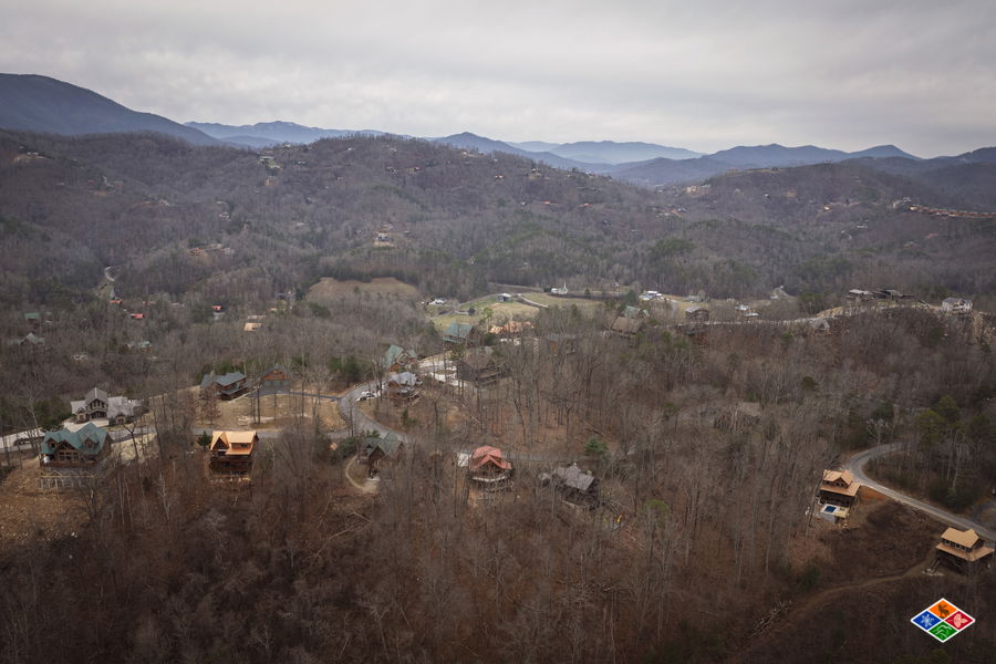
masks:
{"type": "MultiPolygon", "coordinates": [[[[196,396],[197,388],[193,387],[196,396]]],[[[255,400],[249,395],[240,396],[230,402],[219,401],[219,415],[212,423],[207,422],[204,415],[198,416],[198,426],[205,428],[280,428],[291,424],[295,415],[303,413],[305,418],[311,418],[312,408],[318,402],[318,414],[322,418],[323,428],[339,429],[345,425],[339,416],[339,404],[330,400],[315,400],[313,397],[300,397],[290,394],[277,394],[263,396],[259,400],[260,423],[255,424],[252,411],[255,400]],[[303,398],[303,405],[302,405],[303,398]]]]}

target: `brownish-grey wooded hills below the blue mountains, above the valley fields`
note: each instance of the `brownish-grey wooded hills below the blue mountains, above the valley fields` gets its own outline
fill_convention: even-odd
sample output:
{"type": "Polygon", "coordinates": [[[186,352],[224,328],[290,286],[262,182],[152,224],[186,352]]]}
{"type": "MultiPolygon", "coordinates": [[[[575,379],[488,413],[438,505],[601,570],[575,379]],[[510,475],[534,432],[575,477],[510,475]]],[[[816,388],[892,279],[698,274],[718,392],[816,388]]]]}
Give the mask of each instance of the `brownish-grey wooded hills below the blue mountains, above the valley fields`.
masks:
{"type": "Polygon", "coordinates": [[[921,294],[994,289],[992,219],[895,209],[904,197],[965,203],[859,163],[649,191],[393,137],[273,148],[266,163],[155,135],[0,137],[3,232],[23,249],[4,266],[10,302],[85,291],[107,264],[124,266],[125,292],[242,300],[323,276],[396,276],[464,299],[487,282],[713,297],[787,284],[831,300],[855,282],[921,294]],[[374,247],[377,231],[390,246],[374,247]],[[190,255],[212,243],[229,250],[214,261],[190,255]]]}

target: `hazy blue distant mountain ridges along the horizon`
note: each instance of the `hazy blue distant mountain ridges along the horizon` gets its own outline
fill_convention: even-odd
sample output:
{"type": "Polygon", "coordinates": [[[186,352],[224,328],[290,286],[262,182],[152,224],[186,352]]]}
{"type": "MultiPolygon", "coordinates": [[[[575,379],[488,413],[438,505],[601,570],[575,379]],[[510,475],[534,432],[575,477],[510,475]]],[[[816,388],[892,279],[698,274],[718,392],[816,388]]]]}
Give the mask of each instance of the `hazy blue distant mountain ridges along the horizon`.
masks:
{"type": "MultiPolygon", "coordinates": [[[[210,122],[179,124],[152,113],[132,111],[95,92],[40,75],[0,74],[0,127],[39,133],[84,135],[114,132],[157,132],[177,136],[195,145],[229,144],[250,149],[274,145],[308,144],[322,138],[382,135],[377,129],[335,129],[309,127],[292,122],[261,122],[253,125],[226,125],[210,122]]],[[[985,151],[958,157],[921,159],[894,145],[880,145],[858,152],[844,152],[815,145],[787,147],[778,144],[736,146],[710,155],[684,147],[653,143],[583,141],[550,143],[543,141],[504,142],[469,132],[443,137],[426,137],[484,154],[513,154],[558,168],[611,175],[643,186],[701,181],[736,169],[780,168],[810,164],[869,158],[883,162],[890,173],[923,173],[934,166],[953,163],[989,162],[985,151]],[[888,163],[885,163],[888,162],[888,163]]]]}

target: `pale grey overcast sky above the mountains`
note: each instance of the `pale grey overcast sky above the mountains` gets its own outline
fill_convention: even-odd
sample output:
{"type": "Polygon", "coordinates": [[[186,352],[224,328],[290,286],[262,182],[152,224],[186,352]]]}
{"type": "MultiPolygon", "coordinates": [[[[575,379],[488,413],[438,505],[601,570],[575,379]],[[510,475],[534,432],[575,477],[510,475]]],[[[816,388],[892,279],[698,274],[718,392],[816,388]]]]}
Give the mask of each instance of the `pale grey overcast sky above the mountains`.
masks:
{"type": "Polygon", "coordinates": [[[0,0],[0,71],[190,120],[416,136],[996,145],[996,1],[0,0]]]}

